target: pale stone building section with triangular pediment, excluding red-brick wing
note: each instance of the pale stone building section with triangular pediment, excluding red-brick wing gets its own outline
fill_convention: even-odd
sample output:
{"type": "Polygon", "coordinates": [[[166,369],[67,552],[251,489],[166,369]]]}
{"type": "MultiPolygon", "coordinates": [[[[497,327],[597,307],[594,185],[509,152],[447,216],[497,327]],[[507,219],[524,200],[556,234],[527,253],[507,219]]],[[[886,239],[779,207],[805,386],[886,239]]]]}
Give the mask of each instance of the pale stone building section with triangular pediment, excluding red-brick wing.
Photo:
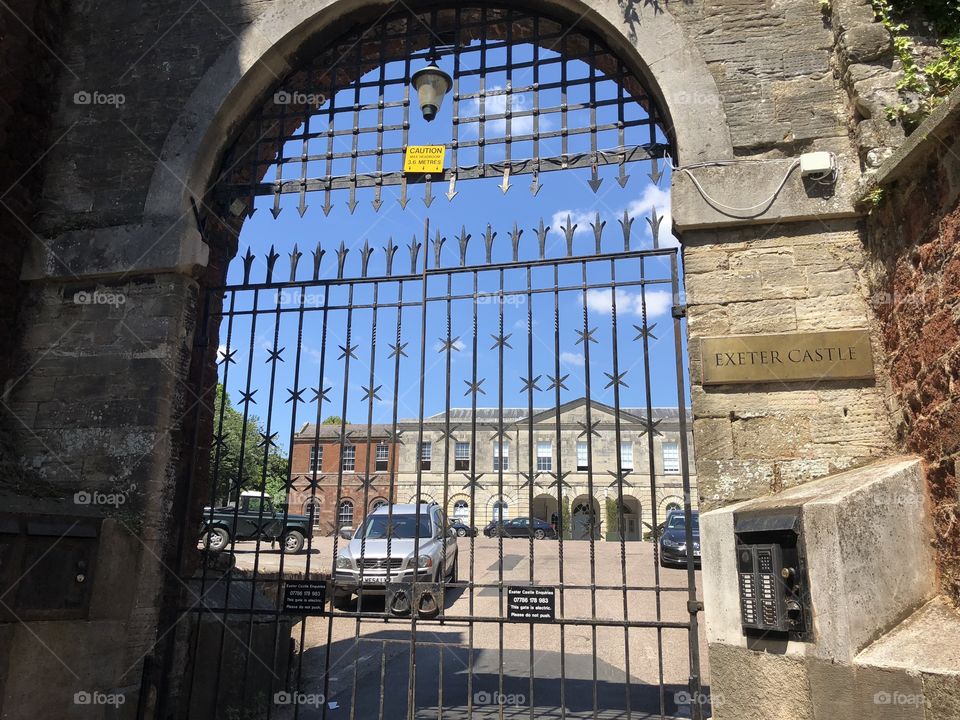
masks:
{"type": "MultiPolygon", "coordinates": [[[[419,492],[421,499],[445,504],[450,517],[481,530],[496,518],[532,515],[557,524],[563,515],[572,539],[588,538],[592,528],[597,539],[619,540],[616,527],[609,527],[615,511],[608,512],[608,505],[619,502],[622,492],[624,536],[640,540],[669,510],[683,507],[678,414],[676,409],[654,408],[651,448],[646,410],[621,409],[619,457],[615,417],[614,408],[591,403],[595,432],[588,447],[583,398],[559,408],[534,408],[532,418],[525,408],[503,408],[502,414],[497,408],[477,408],[475,416],[469,408],[452,408],[449,436],[446,413],[424,418],[419,453],[418,424],[407,421],[402,425],[407,440],[397,464],[398,496],[412,501],[419,492]],[[622,489],[620,471],[629,471],[622,489]]],[[[687,460],[693,468],[694,458],[687,460]]],[[[695,474],[691,487],[695,497],[695,474]]]]}

